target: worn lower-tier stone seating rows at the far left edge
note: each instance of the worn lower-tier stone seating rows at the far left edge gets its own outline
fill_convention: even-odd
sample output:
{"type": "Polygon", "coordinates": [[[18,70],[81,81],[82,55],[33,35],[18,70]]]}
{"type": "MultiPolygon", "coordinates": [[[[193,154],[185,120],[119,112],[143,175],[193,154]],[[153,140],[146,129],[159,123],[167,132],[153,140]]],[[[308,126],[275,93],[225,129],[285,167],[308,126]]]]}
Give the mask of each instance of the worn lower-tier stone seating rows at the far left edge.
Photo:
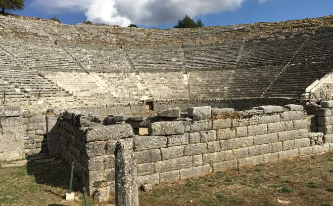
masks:
{"type": "Polygon", "coordinates": [[[0,92],[6,93],[6,102],[69,96],[51,81],[32,71],[10,69],[0,69],[0,92]]]}

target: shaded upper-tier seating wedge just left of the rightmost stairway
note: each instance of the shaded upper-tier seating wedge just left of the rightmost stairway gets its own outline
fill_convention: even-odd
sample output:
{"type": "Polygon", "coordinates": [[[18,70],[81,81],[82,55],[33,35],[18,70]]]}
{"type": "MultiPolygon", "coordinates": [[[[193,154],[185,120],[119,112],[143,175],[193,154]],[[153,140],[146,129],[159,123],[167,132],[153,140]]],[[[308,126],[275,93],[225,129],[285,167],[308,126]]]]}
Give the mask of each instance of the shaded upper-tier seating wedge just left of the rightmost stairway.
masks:
{"type": "Polygon", "coordinates": [[[252,39],[245,46],[239,68],[287,65],[305,42],[307,35],[252,39]]]}

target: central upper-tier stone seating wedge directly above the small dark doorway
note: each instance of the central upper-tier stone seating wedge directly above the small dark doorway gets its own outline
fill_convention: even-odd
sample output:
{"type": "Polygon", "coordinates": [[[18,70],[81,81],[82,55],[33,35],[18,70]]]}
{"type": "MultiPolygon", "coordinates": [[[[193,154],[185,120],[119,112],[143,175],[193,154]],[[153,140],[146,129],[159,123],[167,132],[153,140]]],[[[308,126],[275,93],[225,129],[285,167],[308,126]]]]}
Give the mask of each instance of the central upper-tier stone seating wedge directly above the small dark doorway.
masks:
{"type": "Polygon", "coordinates": [[[137,47],[126,53],[137,71],[185,69],[184,53],[179,47],[137,47]]]}

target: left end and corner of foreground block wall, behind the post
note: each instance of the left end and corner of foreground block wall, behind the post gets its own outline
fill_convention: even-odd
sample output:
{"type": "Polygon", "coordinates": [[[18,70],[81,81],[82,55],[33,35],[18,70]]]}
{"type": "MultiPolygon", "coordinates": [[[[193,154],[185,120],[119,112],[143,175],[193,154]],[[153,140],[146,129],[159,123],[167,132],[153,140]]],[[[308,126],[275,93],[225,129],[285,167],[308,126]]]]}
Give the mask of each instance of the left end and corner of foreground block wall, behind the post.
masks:
{"type": "Polygon", "coordinates": [[[130,125],[104,126],[98,118],[77,112],[64,112],[58,123],[61,154],[68,163],[74,162],[88,194],[97,189],[114,191],[115,146],[119,139],[133,141],[130,125]]]}

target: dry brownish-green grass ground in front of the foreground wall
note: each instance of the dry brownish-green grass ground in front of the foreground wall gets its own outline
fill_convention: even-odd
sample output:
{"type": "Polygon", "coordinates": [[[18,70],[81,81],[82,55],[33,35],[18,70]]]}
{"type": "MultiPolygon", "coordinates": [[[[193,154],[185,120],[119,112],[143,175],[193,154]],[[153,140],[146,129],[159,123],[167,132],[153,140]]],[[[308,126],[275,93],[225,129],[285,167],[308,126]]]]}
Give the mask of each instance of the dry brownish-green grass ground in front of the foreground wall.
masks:
{"type": "MultiPolygon", "coordinates": [[[[0,205],[84,205],[77,184],[79,200],[63,199],[69,170],[61,160],[0,169],[0,205]]],[[[139,201],[141,206],[333,206],[333,152],[161,184],[140,192],[139,201]]],[[[90,205],[98,203],[90,199],[90,205]]]]}

